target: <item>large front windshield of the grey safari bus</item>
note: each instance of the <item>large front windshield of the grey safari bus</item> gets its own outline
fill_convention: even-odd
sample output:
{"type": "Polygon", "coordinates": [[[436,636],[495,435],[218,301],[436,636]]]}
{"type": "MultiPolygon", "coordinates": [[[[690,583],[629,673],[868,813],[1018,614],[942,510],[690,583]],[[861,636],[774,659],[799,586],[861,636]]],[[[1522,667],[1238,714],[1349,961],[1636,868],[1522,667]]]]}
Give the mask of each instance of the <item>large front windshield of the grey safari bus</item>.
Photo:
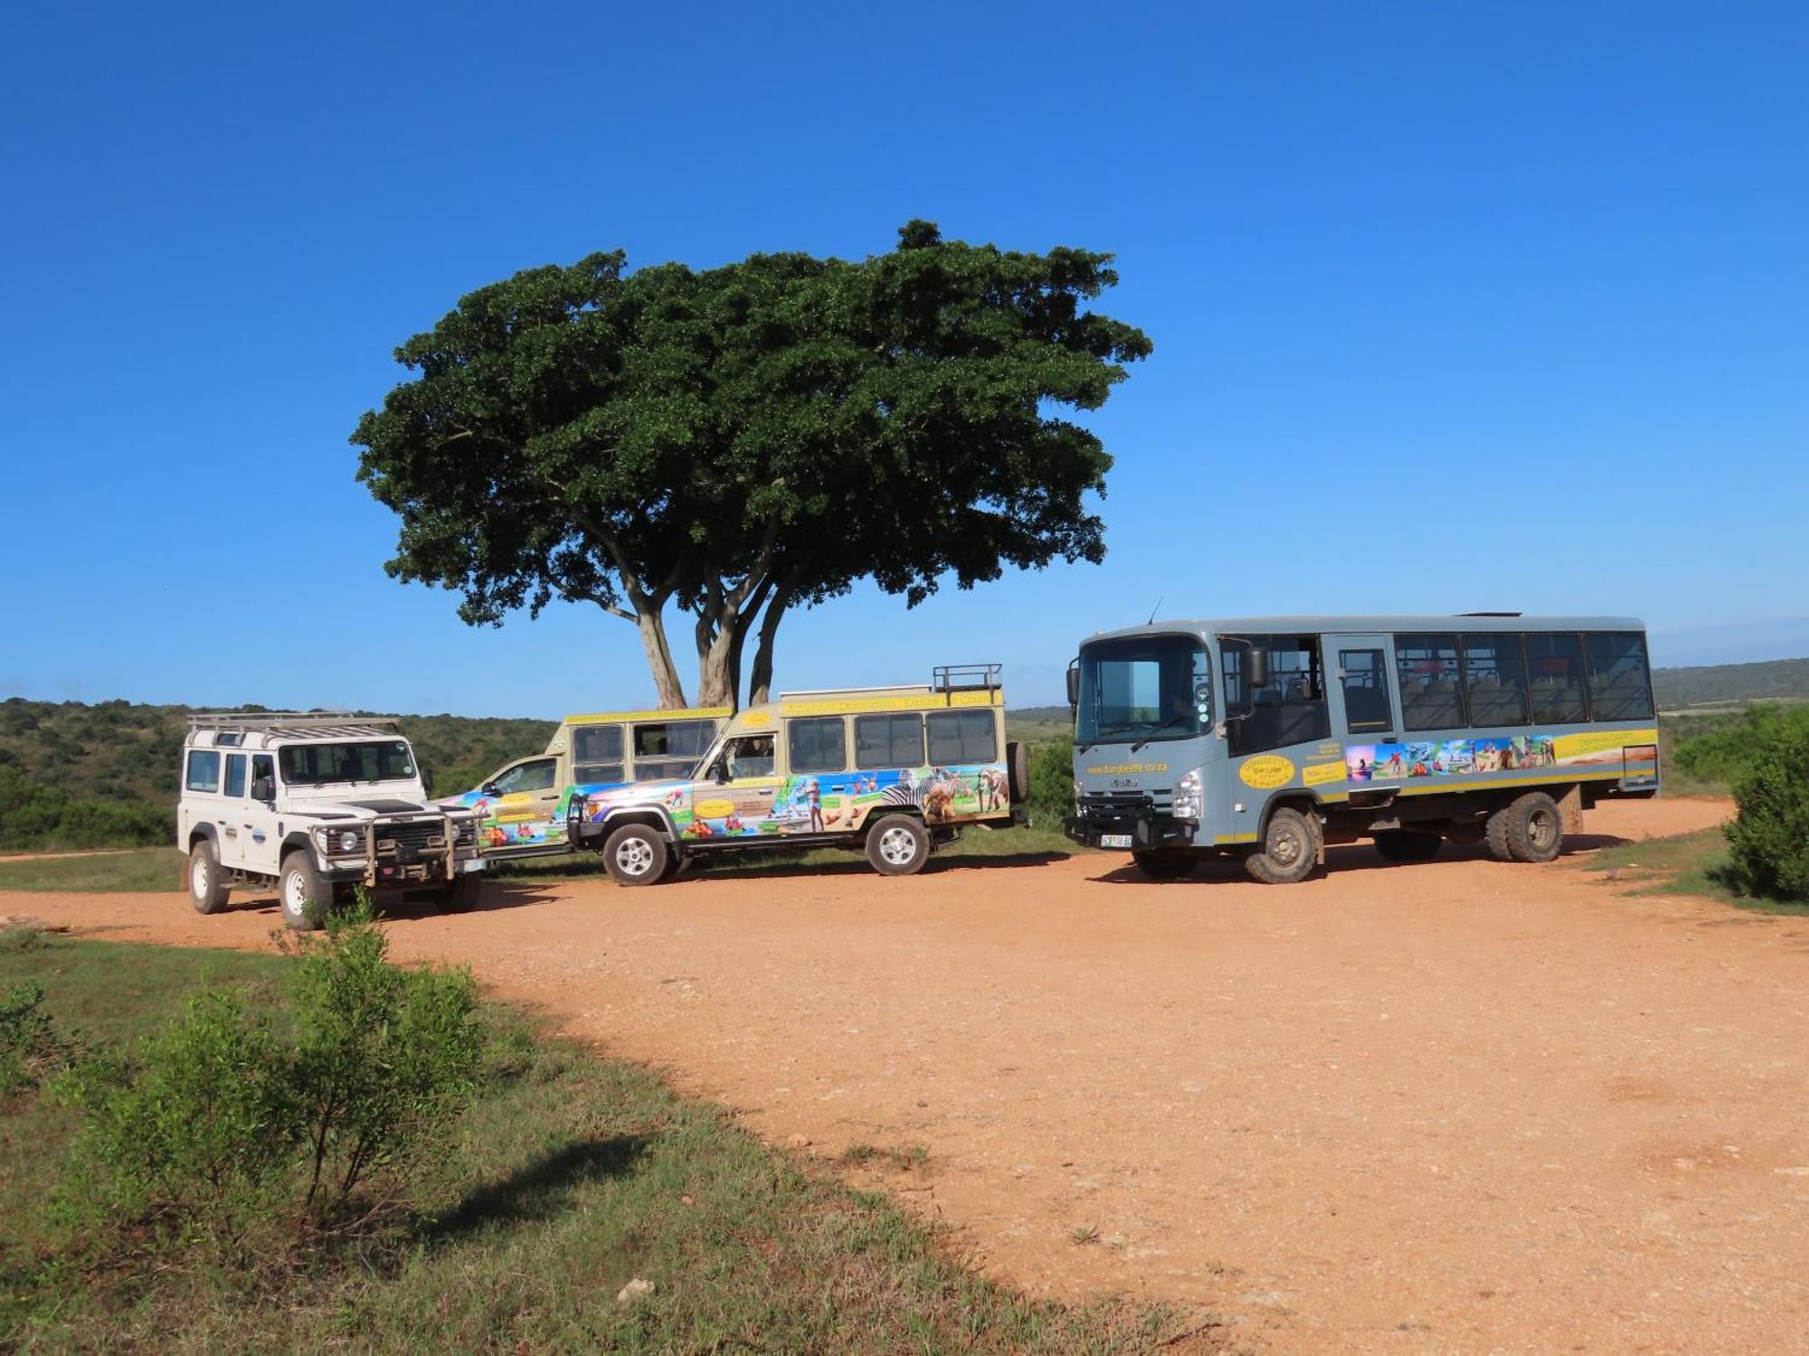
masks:
{"type": "Polygon", "coordinates": [[[1212,729],[1212,676],[1196,636],[1123,636],[1080,651],[1075,739],[1149,743],[1212,729]]]}

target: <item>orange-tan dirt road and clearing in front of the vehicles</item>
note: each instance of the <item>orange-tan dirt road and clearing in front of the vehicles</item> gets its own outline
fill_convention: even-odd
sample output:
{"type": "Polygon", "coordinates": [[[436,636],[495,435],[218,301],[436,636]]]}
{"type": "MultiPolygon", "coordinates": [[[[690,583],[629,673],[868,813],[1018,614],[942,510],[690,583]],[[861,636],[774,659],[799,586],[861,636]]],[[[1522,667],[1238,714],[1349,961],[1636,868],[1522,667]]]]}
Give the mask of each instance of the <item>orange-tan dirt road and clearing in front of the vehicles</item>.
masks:
{"type": "MultiPolygon", "coordinates": [[[[886,1184],[1038,1293],[1207,1304],[1277,1352],[1809,1351],[1809,920],[1476,853],[1333,850],[1293,888],[1120,862],[490,886],[393,937],[781,1143],[926,1146],[886,1184]]],[[[275,924],[179,895],[0,913],[275,924]]]]}

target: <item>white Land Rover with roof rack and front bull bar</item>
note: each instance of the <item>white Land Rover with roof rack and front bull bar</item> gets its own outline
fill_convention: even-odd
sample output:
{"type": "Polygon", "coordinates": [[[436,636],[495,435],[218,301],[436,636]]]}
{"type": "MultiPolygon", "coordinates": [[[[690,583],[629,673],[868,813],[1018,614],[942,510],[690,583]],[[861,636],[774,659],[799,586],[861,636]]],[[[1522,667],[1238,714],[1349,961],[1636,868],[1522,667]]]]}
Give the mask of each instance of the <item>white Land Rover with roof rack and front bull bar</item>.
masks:
{"type": "Polygon", "coordinates": [[[467,908],[485,866],[476,817],[427,799],[400,721],[342,712],[190,716],[175,846],[197,911],[233,880],[273,880],[302,929],[356,886],[467,908]]]}

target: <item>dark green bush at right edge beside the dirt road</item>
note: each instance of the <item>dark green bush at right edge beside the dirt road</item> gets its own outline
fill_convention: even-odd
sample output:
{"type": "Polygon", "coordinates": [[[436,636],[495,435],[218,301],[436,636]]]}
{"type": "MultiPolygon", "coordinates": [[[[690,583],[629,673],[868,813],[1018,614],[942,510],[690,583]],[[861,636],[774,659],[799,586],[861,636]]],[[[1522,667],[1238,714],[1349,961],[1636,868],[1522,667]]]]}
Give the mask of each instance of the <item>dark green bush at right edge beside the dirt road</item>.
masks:
{"type": "Polygon", "coordinates": [[[1809,709],[1760,707],[1751,720],[1728,868],[1744,893],[1809,902],[1809,709]]]}

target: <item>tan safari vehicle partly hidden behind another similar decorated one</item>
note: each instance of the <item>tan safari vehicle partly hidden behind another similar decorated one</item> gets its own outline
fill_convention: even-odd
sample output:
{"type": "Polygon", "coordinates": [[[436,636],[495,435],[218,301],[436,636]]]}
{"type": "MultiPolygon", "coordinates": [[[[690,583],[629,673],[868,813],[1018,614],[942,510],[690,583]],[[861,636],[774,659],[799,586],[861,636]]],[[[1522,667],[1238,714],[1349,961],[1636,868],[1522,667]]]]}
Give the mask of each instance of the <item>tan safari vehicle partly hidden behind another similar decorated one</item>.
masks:
{"type": "Polygon", "coordinates": [[[543,752],[505,763],[443,805],[478,817],[478,846],[487,857],[572,852],[572,796],[689,777],[731,714],[729,707],[691,707],[566,716],[543,752]]]}

